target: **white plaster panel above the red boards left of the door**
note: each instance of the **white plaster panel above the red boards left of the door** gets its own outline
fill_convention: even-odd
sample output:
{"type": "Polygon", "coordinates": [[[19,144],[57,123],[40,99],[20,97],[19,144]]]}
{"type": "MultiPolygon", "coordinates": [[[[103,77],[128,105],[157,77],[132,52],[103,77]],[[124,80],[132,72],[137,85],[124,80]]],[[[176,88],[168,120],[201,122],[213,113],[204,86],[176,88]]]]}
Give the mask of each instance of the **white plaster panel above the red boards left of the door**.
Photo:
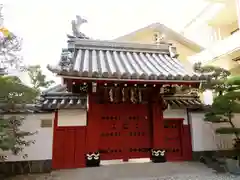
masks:
{"type": "Polygon", "coordinates": [[[86,126],[87,111],[84,109],[60,110],[58,126],[86,126]]]}

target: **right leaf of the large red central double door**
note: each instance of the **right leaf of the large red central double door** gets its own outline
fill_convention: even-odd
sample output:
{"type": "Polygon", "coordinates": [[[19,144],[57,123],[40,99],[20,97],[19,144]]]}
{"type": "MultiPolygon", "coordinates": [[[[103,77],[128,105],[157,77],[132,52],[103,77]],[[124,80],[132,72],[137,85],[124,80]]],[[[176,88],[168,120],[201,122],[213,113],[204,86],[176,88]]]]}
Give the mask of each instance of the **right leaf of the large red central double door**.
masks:
{"type": "Polygon", "coordinates": [[[148,109],[143,104],[130,104],[131,109],[124,114],[124,146],[127,158],[147,158],[150,156],[151,127],[148,109]]]}

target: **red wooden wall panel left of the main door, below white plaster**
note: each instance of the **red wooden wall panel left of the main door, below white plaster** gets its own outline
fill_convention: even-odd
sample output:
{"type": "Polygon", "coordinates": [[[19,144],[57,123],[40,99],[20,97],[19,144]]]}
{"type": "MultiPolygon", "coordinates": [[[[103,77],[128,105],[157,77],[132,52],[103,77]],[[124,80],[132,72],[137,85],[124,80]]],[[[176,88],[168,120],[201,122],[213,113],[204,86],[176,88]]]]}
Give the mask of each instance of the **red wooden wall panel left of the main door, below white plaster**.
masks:
{"type": "Polygon", "coordinates": [[[85,127],[54,127],[53,169],[85,166],[85,127]]]}

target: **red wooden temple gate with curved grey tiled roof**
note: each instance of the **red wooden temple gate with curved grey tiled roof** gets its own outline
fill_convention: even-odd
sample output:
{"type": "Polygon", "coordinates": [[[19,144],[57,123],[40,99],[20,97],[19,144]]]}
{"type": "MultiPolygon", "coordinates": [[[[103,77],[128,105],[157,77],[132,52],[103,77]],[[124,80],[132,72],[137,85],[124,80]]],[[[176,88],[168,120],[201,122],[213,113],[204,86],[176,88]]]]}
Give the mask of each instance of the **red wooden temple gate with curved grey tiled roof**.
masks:
{"type": "MultiPolygon", "coordinates": [[[[191,90],[209,77],[186,70],[171,44],[69,37],[59,64],[49,69],[62,77],[67,89],[61,100],[54,101],[56,111],[62,105],[83,101],[86,107],[85,134],[79,137],[82,143],[74,136],[75,144],[82,146],[79,158],[85,157],[78,167],[98,166],[100,161],[112,159],[191,159],[189,124],[184,124],[184,118],[164,118],[163,112],[176,106],[186,109],[201,105],[191,90]]],[[[55,144],[61,140],[56,134],[54,138],[55,144]]],[[[76,154],[77,146],[71,148],[76,154]]],[[[56,158],[54,155],[61,149],[53,149],[56,158]]],[[[61,167],[65,166],[58,164],[54,168],[61,167]]]]}

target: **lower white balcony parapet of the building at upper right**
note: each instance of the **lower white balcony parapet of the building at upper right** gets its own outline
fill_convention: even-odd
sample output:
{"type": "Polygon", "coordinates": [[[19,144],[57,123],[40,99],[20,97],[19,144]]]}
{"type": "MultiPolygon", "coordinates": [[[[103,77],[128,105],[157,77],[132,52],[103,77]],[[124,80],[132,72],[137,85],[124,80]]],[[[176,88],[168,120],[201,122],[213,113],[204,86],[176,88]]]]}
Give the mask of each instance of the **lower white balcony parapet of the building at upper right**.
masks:
{"type": "MultiPolygon", "coordinates": [[[[210,63],[221,56],[231,55],[240,50],[240,31],[236,31],[231,36],[216,41],[210,47],[202,52],[190,56],[189,60],[192,63],[202,62],[203,64],[210,63]]],[[[234,57],[233,57],[234,58],[234,57]]]]}

